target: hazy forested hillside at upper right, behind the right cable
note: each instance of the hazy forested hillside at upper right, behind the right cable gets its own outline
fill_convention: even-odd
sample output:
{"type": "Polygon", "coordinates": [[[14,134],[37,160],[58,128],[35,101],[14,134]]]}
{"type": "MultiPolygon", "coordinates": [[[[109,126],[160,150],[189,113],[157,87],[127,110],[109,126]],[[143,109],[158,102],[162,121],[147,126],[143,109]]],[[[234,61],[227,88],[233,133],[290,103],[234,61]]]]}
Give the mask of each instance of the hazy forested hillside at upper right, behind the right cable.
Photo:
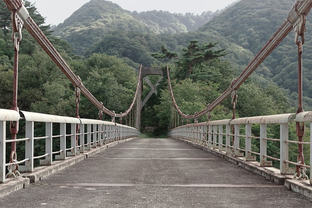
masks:
{"type": "MultiPolygon", "coordinates": [[[[287,19],[294,0],[240,0],[221,15],[207,22],[199,29],[202,32],[216,31],[226,40],[251,51],[256,55],[263,45],[271,38],[278,27],[287,19]]],[[[303,95],[304,107],[312,110],[312,51],[311,19],[307,18],[306,42],[303,46],[303,95]]],[[[289,92],[293,107],[297,98],[297,46],[294,33],[291,33],[273,51],[262,64],[257,73],[266,80],[272,80],[289,92]]],[[[265,86],[265,84],[264,84],[265,86]]]]}

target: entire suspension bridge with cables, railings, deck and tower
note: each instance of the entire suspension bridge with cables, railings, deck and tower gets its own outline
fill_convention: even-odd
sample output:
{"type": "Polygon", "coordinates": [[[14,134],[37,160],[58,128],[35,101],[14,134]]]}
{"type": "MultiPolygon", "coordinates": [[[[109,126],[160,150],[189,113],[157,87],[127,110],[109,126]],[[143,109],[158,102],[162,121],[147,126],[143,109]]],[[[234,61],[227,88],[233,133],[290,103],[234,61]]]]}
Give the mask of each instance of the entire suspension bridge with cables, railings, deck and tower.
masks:
{"type": "Polygon", "coordinates": [[[306,124],[312,123],[312,112],[304,112],[302,106],[302,47],[312,0],[296,1],[284,23],[246,69],[199,113],[187,115],[179,109],[167,67],[172,103],[167,139],[138,139],[141,109],[162,80],[153,85],[147,75],[163,76],[162,70],[140,66],[134,99],[127,111],[117,114],[88,91],[21,0],[4,2],[12,13],[15,63],[13,106],[0,109],[1,206],[311,207],[311,164],[304,159],[306,156],[312,161],[312,154],[304,155],[303,150],[311,151],[312,147],[310,142],[303,142],[303,136],[306,124]],[[76,117],[19,110],[18,58],[23,27],[74,85],[76,117]],[[238,88],[292,30],[298,47],[297,112],[236,118],[238,88]],[[142,101],[143,78],[152,90],[142,101]],[[79,117],[81,94],[98,108],[98,120],[79,117]],[[212,121],[211,112],[228,97],[232,97],[233,117],[212,121]],[[103,121],[103,113],[112,120],[103,121]],[[198,123],[200,116],[208,116],[208,121],[198,123]],[[179,117],[186,124],[176,122],[179,117]],[[289,140],[291,123],[296,123],[297,141],[289,140]],[[45,126],[45,135],[36,135],[37,124],[45,126]],[[260,126],[260,136],[253,136],[253,125],[260,126]],[[279,138],[268,137],[268,125],[279,127],[279,138]],[[42,155],[34,149],[36,140],[45,141],[42,155]],[[258,152],[252,150],[253,140],[259,141],[258,152]],[[279,158],[267,154],[267,144],[272,141],[280,143],[279,158]],[[59,143],[58,150],[53,148],[55,142],[59,143]],[[11,145],[9,158],[7,144],[11,145]],[[289,144],[298,146],[296,161],[289,159],[289,144]],[[21,160],[17,145],[25,149],[21,160]],[[39,167],[35,167],[38,160],[39,167]],[[272,167],[273,160],[280,163],[279,169],[272,167]]]}

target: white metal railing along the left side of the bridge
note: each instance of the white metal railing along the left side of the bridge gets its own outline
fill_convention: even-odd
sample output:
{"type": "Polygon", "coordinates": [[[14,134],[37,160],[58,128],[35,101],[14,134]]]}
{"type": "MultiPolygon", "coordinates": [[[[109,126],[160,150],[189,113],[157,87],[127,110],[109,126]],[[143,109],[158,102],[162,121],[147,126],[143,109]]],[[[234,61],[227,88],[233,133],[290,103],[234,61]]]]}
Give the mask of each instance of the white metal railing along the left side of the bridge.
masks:
{"type": "MultiPolygon", "coordinates": [[[[23,131],[20,132],[23,133],[23,131]]],[[[42,158],[39,160],[39,165],[50,166],[53,164],[53,159],[65,160],[66,157],[84,153],[109,142],[137,137],[139,134],[140,132],[135,128],[113,122],[25,111],[18,113],[13,110],[0,109],[0,183],[5,181],[5,168],[8,166],[24,164],[19,165],[19,171],[32,172],[35,159],[42,158]],[[20,129],[25,129],[25,138],[16,140],[7,138],[10,136],[7,136],[9,130],[6,128],[6,123],[9,121],[20,121],[20,129]],[[21,121],[25,122],[24,128],[21,121]],[[45,125],[45,135],[35,135],[35,124],[45,125]],[[77,125],[80,126],[79,133],[76,132],[77,125]],[[78,143],[76,143],[77,136],[78,143]],[[44,154],[35,156],[39,153],[34,151],[34,143],[37,140],[45,140],[45,151],[44,154]],[[6,158],[6,144],[12,142],[18,142],[18,145],[24,146],[25,157],[18,162],[6,163],[9,161],[9,157],[6,158]],[[58,150],[54,147],[55,144],[58,150]]],[[[18,156],[20,156],[19,152],[18,156]]]]}

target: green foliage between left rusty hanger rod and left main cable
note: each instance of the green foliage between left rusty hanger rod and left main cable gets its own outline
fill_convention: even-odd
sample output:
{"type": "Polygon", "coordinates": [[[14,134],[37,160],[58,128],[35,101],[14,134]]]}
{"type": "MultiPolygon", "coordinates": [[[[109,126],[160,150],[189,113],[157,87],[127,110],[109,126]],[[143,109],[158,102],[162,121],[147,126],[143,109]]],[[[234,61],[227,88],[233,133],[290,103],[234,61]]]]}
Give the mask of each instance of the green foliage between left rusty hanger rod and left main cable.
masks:
{"type": "MultiPolygon", "coordinates": [[[[66,59],[65,54],[63,57],[66,59]]],[[[31,55],[20,55],[18,103],[22,110],[74,115],[74,89],[53,60],[36,47],[31,55]],[[67,101],[64,101],[67,100],[67,101]],[[62,105],[63,109],[59,105],[62,105]],[[72,108],[70,111],[66,111],[72,108]]]]}

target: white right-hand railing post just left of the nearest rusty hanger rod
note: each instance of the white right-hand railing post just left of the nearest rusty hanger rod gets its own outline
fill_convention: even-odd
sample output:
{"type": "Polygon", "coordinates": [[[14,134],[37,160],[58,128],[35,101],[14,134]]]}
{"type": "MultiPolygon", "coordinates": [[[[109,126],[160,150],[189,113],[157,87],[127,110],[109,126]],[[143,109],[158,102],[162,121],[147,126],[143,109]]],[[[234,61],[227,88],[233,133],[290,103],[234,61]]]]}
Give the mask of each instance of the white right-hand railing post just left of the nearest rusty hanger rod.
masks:
{"type": "Polygon", "coordinates": [[[289,145],[285,140],[289,137],[289,124],[280,125],[280,172],[281,174],[294,174],[295,168],[289,168],[289,164],[285,163],[289,157],[289,145]]]}

